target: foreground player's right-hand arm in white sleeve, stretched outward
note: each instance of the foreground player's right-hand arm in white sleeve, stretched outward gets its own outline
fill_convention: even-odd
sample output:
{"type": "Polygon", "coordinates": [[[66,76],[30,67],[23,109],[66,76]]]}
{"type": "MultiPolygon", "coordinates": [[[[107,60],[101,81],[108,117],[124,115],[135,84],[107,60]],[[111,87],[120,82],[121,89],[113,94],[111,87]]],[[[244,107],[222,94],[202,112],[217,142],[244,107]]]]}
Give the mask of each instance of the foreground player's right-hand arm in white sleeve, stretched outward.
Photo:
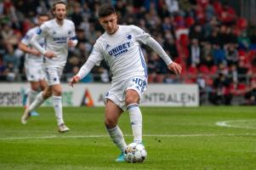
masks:
{"type": "Polygon", "coordinates": [[[174,71],[175,74],[180,74],[182,68],[180,65],[178,65],[177,63],[175,63],[169,56],[168,54],[166,54],[166,52],[163,50],[163,48],[161,47],[161,45],[156,42],[156,40],[154,38],[151,37],[151,35],[149,35],[148,33],[145,33],[143,30],[141,30],[139,27],[134,26],[133,28],[135,35],[136,35],[136,39],[139,42],[144,43],[145,45],[151,47],[156,54],[158,54],[166,63],[166,65],[168,65],[168,69],[170,71],[174,71]]]}

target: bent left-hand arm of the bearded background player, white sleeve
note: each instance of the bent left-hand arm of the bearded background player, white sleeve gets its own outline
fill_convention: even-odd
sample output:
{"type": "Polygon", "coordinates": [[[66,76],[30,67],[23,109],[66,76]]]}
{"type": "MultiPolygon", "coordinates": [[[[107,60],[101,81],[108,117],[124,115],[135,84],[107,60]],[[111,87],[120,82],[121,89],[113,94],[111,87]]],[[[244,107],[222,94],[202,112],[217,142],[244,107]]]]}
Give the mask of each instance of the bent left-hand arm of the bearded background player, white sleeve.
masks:
{"type": "Polygon", "coordinates": [[[38,43],[38,41],[43,37],[45,38],[47,33],[46,30],[48,28],[46,28],[46,26],[43,24],[42,26],[40,26],[40,28],[37,30],[37,33],[34,34],[31,37],[31,45],[34,48],[37,48],[37,50],[43,54],[44,56],[48,57],[49,59],[55,57],[56,55],[54,54],[54,52],[52,51],[46,51],[43,47],[41,47],[41,45],[38,43]]]}

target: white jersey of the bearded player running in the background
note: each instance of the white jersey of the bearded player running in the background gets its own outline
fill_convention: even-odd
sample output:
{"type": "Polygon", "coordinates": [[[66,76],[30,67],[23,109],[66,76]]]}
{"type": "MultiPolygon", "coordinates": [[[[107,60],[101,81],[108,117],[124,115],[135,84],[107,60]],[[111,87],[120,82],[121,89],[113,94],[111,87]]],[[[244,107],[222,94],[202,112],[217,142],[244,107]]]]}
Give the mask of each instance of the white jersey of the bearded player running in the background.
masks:
{"type": "Polygon", "coordinates": [[[43,65],[48,67],[64,67],[68,54],[68,41],[76,39],[74,23],[71,20],[64,20],[63,25],[59,25],[56,20],[48,20],[40,26],[35,37],[32,38],[32,45],[42,54],[46,51],[52,51],[56,57],[48,59],[43,58],[43,65]],[[45,37],[45,49],[38,47],[35,40],[45,37]]]}

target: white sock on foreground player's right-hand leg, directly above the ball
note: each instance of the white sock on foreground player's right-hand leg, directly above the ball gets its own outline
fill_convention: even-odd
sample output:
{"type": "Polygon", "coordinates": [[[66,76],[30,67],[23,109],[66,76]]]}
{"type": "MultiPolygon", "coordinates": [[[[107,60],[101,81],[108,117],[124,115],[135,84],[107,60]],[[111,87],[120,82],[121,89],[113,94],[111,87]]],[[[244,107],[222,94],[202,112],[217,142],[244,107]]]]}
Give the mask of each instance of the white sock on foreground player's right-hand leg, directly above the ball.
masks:
{"type": "Polygon", "coordinates": [[[134,143],[142,143],[142,115],[138,104],[127,106],[134,135],[134,143]]]}

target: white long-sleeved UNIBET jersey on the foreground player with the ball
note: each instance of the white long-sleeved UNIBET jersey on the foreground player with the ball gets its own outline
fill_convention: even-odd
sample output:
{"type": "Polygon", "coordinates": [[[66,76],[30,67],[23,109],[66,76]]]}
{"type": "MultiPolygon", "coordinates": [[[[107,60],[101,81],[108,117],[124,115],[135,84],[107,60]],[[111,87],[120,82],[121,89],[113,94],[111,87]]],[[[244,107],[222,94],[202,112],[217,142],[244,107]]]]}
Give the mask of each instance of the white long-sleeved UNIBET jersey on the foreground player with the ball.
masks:
{"type": "MultiPolygon", "coordinates": [[[[114,34],[105,32],[98,38],[88,60],[100,65],[100,61],[105,59],[111,69],[112,82],[136,76],[147,77],[146,63],[139,42],[145,44],[152,42],[153,45],[148,45],[156,48],[155,50],[167,64],[172,62],[160,45],[150,37],[137,26],[119,26],[114,34]]],[[[78,75],[81,76],[82,71],[78,75]]]]}

